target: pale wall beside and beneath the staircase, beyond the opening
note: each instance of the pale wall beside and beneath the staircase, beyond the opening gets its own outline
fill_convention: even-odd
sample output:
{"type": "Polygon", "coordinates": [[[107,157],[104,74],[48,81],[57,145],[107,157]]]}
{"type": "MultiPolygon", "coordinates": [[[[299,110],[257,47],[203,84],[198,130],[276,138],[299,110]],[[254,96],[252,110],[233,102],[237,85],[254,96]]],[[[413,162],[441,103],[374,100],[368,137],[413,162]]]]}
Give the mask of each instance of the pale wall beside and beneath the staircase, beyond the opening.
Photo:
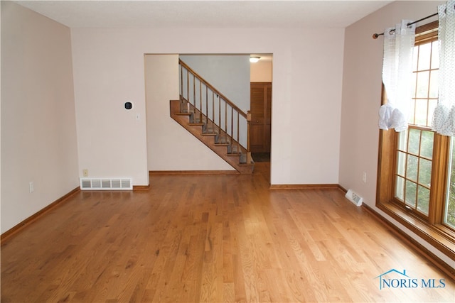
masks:
{"type": "Polygon", "coordinates": [[[178,100],[178,55],[146,55],[147,160],[149,170],[234,170],[225,160],[171,119],[178,100]],[[177,150],[169,160],[170,150],[177,150]]]}

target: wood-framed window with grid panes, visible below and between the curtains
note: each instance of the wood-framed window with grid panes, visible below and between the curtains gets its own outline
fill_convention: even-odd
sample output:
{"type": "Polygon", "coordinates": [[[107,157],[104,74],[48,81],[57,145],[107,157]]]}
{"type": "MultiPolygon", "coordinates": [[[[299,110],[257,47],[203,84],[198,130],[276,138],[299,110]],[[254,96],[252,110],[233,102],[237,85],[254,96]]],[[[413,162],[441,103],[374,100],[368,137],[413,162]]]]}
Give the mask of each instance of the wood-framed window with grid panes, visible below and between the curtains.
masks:
{"type": "Polygon", "coordinates": [[[431,128],[438,97],[437,26],[416,29],[409,128],[380,131],[377,206],[454,258],[455,140],[431,128]]]}

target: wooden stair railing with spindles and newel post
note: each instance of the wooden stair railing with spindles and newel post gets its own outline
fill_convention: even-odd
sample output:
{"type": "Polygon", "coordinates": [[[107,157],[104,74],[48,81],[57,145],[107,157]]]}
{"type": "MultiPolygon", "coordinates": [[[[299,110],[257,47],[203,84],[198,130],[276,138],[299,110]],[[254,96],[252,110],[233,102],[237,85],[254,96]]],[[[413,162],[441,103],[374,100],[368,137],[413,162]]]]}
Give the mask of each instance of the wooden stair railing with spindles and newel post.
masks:
{"type": "Polygon", "coordinates": [[[242,162],[251,164],[250,120],[232,101],[200,77],[185,62],[178,60],[180,73],[180,112],[193,111],[191,123],[205,123],[218,131],[218,137],[230,137],[231,148],[242,153],[242,162]],[[243,161],[245,160],[245,161],[243,161]]]}

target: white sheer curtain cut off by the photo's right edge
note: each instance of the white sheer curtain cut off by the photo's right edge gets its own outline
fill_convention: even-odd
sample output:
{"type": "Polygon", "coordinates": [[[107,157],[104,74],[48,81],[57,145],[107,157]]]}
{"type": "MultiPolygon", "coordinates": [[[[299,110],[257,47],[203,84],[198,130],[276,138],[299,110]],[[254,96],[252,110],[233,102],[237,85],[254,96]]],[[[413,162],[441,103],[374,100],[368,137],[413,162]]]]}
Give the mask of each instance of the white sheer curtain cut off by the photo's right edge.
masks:
{"type": "Polygon", "coordinates": [[[433,130],[455,136],[455,1],[438,6],[439,15],[439,100],[433,130]]]}

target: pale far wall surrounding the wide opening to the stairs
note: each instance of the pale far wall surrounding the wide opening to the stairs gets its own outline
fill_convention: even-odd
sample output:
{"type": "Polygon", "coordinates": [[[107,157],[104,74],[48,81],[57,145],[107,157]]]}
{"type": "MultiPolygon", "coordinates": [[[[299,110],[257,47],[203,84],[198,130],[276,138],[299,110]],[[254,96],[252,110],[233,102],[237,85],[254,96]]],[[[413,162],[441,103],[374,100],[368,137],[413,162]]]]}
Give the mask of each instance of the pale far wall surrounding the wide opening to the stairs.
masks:
{"type": "MultiPolygon", "coordinates": [[[[131,99],[135,112],[145,116],[144,53],[272,53],[272,184],[338,183],[343,29],[74,28],[71,33],[80,170],[148,182],[145,121],[122,109],[131,99]],[[100,138],[93,126],[122,133],[100,138]]],[[[161,160],[180,156],[168,150],[161,160]]]]}

